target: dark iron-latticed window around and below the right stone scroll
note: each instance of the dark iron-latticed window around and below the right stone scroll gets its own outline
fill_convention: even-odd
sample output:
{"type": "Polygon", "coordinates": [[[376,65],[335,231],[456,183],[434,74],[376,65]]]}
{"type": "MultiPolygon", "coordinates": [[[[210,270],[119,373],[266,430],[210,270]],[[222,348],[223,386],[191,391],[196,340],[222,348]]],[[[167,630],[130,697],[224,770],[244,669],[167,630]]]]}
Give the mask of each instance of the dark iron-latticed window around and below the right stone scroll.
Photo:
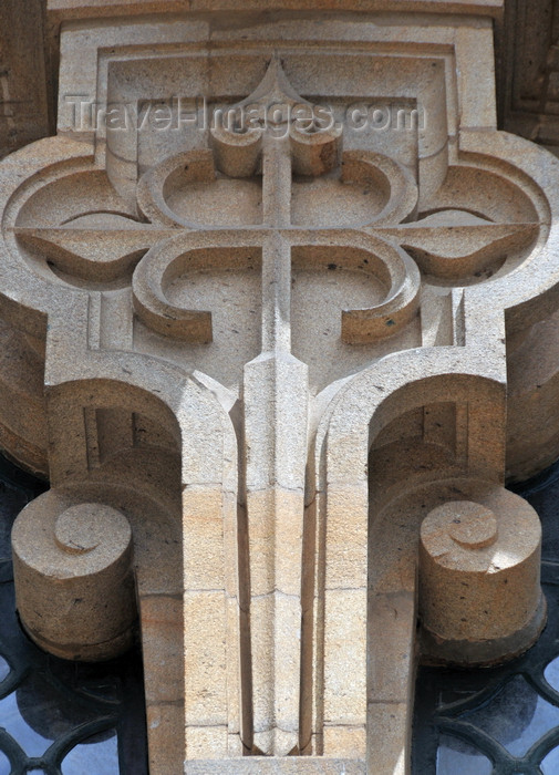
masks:
{"type": "Polygon", "coordinates": [[[541,518],[548,623],[534,648],[504,666],[420,668],[414,775],[559,773],[559,463],[514,489],[541,518]]]}

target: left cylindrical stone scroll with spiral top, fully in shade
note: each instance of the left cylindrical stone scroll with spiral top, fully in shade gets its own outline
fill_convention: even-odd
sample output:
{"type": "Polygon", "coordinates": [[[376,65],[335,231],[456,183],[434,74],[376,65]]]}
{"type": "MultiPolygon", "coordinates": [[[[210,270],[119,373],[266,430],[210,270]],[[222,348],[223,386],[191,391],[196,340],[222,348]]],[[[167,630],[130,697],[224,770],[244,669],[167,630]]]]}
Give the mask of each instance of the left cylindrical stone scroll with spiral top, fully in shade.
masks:
{"type": "Polygon", "coordinates": [[[132,645],[137,617],[130,523],[99,503],[56,510],[46,493],[12,529],[21,622],[56,657],[111,659],[132,645]]]}

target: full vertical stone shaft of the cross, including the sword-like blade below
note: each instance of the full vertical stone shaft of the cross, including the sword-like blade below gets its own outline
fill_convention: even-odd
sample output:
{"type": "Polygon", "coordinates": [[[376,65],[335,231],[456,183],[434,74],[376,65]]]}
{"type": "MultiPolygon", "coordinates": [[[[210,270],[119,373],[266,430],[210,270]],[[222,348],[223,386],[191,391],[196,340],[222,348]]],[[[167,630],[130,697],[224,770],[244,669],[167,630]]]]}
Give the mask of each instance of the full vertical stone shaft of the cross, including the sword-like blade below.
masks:
{"type": "Polygon", "coordinates": [[[250,558],[253,746],[299,746],[301,552],[308,370],[290,353],[289,140],[265,141],[262,350],[245,366],[245,456],[250,558]]]}

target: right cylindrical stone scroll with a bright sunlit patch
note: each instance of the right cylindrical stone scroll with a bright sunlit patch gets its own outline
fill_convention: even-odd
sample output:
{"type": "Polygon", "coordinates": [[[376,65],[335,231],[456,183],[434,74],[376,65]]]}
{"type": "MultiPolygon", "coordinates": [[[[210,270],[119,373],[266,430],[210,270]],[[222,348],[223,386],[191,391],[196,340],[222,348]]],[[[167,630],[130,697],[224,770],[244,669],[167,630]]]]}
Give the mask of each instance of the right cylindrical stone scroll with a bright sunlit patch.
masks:
{"type": "Polygon", "coordinates": [[[490,664],[526,651],[546,621],[540,547],[538,515],[506,489],[434,508],[420,544],[425,657],[490,664]]]}

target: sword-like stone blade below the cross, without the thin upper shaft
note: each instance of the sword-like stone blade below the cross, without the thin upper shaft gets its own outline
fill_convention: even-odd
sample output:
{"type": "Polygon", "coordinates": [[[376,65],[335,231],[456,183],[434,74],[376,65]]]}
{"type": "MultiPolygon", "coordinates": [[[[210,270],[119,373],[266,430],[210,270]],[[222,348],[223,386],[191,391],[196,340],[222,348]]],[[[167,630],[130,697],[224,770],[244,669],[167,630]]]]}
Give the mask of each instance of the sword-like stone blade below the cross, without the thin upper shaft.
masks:
{"type": "Polygon", "coordinates": [[[299,744],[307,366],[286,352],[245,366],[253,745],[299,744]]]}

